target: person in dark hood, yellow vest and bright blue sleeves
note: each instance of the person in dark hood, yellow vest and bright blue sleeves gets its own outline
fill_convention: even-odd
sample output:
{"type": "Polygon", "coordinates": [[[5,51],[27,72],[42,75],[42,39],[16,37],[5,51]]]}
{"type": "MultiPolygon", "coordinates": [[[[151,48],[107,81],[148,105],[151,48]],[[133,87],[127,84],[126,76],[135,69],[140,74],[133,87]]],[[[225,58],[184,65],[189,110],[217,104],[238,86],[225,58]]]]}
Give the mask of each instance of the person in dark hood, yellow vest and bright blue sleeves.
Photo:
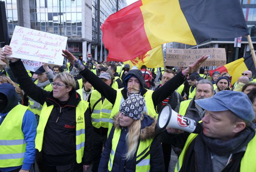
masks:
{"type": "Polygon", "coordinates": [[[18,104],[15,87],[0,85],[0,172],[34,172],[37,120],[18,104]]]}

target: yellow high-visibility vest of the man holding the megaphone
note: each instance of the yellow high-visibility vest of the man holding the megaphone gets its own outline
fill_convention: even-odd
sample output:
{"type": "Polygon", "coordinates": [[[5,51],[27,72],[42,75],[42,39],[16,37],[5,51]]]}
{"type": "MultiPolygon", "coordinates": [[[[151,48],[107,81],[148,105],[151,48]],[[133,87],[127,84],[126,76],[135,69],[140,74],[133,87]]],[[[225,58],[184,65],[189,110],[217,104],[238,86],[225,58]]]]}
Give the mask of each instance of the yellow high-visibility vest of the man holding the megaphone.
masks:
{"type": "MultiPolygon", "coordinates": [[[[185,153],[188,150],[189,144],[197,137],[197,134],[191,133],[185,143],[182,153],[179,156],[179,160],[176,163],[175,172],[179,172],[182,168],[182,163],[185,157],[185,153]]],[[[256,154],[256,136],[247,144],[244,157],[241,160],[240,172],[256,172],[255,154],[256,154]]]]}

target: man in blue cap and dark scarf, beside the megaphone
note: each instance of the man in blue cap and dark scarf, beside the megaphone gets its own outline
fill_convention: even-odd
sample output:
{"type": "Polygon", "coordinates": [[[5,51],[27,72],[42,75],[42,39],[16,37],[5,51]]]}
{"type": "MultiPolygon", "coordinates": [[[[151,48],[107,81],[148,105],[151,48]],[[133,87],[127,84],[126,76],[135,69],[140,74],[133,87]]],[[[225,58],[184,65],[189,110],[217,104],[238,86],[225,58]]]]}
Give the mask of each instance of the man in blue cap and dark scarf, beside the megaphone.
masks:
{"type": "MultiPolygon", "coordinates": [[[[186,140],[185,146],[173,143],[183,148],[175,171],[255,172],[255,114],[247,95],[224,90],[195,102],[206,110],[203,131],[189,136],[183,133],[174,139],[186,140]]],[[[172,128],[167,131],[181,132],[172,128]]]]}

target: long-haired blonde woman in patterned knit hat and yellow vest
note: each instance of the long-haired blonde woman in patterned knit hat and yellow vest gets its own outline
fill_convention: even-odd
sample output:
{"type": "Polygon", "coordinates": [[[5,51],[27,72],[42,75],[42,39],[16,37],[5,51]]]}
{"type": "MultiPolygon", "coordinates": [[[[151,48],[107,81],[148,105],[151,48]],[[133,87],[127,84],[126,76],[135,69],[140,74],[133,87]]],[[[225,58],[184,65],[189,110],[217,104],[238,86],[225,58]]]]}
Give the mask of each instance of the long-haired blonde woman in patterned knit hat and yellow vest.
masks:
{"type": "Polygon", "coordinates": [[[163,172],[163,151],[153,139],[155,119],[143,114],[145,99],[133,94],[120,105],[98,172],[163,172]]]}

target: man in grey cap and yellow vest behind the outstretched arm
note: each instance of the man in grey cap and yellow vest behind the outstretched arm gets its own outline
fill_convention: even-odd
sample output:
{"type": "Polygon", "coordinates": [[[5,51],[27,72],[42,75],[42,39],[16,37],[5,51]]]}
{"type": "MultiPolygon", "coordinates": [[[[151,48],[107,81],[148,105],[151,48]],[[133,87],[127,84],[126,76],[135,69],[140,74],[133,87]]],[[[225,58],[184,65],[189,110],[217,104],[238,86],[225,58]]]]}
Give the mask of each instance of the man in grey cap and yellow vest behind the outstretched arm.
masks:
{"type": "MultiPolygon", "coordinates": [[[[108,86],[111,84],[111,76],[108,72],[101,73],[99,78],[108,86]]],[[[89,108],[93,123],[93,168],[92,172],[97,172],[108,135],[108,123],[113,104],[97,90],[93,90],[88,97],[89,108]]]]}

